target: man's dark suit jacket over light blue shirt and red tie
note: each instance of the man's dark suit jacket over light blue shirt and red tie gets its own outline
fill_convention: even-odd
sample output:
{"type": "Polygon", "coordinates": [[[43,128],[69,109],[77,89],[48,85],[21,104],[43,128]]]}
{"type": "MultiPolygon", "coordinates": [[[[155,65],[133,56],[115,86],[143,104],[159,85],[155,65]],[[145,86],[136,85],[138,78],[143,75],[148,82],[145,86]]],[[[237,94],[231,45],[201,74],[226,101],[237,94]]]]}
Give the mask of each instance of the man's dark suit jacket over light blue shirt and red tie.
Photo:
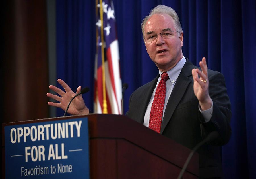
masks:
{"type": "MultiPolygon", "coordinates": [[[[193,90],[192,69],[199,68],[190,61],[186,61],[176,80],[168,100],[161,134],[192,149],[210,132],[218,131],[220,137],[203,145],[199,153],[200,178],[221,177],[221,148],[228,142],[231,135],[230,128],[230,100],[227,95],[224,76],[216,71],[208,70],[209,95],[213,101],[213,114],[210,122],[205,123],[199,112],[193,90]]],[[[150,97],[156,87],[158,76],[151,82],[135,90],[130,97],[127,116],[142,123],[150,97]]]]}

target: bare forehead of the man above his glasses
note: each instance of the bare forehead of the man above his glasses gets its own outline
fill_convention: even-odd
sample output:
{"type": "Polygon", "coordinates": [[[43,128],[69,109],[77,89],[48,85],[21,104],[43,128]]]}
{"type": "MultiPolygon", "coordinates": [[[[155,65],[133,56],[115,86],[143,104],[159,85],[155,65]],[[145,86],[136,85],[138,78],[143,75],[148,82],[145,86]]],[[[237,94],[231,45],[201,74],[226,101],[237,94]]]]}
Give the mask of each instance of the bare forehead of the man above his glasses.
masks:
{"type": "Polygon", "coordinates": [[[174,21],[168,14],[154,14],[145,24],[144,33],[160,32],[162,29],[171,28],[174,30],[174,21]]]}

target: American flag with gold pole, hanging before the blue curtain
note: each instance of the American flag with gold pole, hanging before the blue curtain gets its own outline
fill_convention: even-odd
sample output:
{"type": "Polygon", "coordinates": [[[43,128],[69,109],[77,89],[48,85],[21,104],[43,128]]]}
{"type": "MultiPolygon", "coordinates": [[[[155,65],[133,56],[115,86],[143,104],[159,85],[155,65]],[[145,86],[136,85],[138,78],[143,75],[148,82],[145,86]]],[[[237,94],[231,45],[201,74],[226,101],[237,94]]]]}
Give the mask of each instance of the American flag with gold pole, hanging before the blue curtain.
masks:
{"type": "Polygon", "coordinates": [[[110,0],[96,0],[95,113],[121,114],[122,82],[113,7],[110,0]]]}

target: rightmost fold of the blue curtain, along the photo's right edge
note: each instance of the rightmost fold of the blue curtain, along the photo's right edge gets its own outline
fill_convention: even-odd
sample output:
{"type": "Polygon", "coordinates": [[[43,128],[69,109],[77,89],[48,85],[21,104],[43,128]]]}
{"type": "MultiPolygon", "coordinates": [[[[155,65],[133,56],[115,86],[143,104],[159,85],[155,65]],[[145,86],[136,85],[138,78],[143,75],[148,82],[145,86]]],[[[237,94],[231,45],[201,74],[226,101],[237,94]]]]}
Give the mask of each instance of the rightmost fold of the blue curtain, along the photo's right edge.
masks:
{"type": "MultiPolygon", "coordinates": [[[[256,3],[245,1],[242,3],[242,39],[243,39],[243,76],[245,90],[245,118],[246,144],[249,177],[255,177],[256,159],[256,3]]],[[[246,153],[245,153],[246,154],[246,153]]]]}

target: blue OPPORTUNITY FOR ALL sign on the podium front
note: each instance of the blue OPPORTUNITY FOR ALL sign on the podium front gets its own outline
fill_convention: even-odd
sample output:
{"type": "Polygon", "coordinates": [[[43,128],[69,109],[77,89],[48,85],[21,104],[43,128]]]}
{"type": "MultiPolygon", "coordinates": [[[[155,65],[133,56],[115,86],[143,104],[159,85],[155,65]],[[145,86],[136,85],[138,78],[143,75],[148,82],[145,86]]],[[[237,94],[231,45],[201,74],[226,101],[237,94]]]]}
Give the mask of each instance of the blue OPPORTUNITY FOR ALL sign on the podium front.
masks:
{"type": "Polygon", "coordinates": [[[88,178],[88,118],[5,126],[6,178],[88,178]]]}

